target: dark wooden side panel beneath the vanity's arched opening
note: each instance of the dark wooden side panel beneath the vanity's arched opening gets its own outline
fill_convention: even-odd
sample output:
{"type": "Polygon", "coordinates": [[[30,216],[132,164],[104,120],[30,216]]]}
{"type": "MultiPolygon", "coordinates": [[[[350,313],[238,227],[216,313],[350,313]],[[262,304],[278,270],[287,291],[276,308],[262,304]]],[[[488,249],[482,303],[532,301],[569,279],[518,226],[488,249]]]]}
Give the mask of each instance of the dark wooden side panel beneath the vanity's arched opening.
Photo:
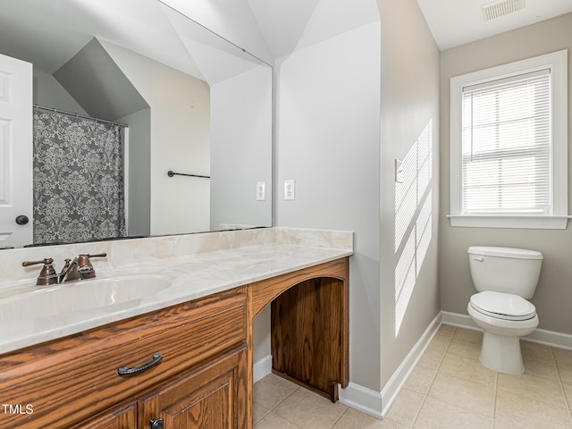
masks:
{"type": "Polygon", "coordinates": [[[345,280],[320,277],[271,304],[273,372],[334,402],[349,383],[348,293],[345,280]]]}

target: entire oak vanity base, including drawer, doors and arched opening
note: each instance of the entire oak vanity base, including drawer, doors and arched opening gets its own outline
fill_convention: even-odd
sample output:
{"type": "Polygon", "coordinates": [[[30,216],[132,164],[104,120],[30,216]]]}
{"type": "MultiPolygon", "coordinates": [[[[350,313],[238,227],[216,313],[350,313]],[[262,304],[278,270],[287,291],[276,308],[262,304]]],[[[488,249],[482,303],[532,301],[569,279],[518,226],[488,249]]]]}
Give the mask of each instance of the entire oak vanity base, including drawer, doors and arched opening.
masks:
{"type": "Polygon", "coordinates": [[[251,429],[253,322],[270,303],[273,372],[335,401],[349,383],[348,279],[344,257],[4,353],[0,400],[33,413],[0,426],[251,429]]]}

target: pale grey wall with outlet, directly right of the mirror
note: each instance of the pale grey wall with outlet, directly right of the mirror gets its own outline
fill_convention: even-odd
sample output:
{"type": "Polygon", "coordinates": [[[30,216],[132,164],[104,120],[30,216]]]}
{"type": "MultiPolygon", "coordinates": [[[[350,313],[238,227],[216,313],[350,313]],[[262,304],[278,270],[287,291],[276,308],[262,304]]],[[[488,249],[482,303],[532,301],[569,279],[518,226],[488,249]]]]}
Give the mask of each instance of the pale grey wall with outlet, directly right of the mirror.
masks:
{"type": "Polygon", "coordinates": [[[355,231],[349,376],[380,391],[380,27],[369,24],[276,64],[275,221],[355,231]],[[283,199],[285,180],[296,199],[283,199]]]}

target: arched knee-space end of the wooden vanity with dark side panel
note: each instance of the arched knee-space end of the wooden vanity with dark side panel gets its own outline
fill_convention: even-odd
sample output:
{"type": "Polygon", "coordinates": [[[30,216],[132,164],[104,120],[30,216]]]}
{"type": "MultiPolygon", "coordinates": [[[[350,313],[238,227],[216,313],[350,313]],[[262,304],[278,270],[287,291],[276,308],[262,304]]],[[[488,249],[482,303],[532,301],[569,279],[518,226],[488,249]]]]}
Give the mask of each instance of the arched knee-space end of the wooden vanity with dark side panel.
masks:
{"type": "Polygon", "coordinates": [[[274,374],[333,402],[349,383],[349,258],[250,285],[252,317],[271,304],[274,374]]]}

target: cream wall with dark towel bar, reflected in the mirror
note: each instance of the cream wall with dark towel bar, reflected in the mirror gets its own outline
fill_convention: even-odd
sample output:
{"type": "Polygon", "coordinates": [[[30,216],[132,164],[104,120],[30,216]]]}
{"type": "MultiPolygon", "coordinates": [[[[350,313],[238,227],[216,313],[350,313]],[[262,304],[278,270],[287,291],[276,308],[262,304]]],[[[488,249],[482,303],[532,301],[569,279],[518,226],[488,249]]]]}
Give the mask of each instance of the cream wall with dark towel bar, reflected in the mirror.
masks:
{"type": "Polygon", "coordinates": [[[102,42],[151,108],[153,235],[209,230],[209,180],[167,172],[210,173],[210,88],[120,46],[102,42]]]}

